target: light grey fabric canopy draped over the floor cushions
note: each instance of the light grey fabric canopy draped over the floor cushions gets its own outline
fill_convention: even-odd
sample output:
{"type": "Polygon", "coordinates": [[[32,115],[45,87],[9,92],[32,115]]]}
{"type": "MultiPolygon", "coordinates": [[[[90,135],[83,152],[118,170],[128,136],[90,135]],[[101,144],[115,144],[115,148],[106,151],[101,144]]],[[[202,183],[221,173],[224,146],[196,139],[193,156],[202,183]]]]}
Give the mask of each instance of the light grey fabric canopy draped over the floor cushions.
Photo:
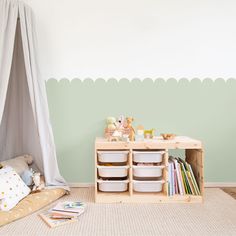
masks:
{"type": "Polygon", "coordinates": [[[32,10],[0,0],[0,161],[31,154],[46,186],[68,189],[60,175],[40,77],[32,10]]]}

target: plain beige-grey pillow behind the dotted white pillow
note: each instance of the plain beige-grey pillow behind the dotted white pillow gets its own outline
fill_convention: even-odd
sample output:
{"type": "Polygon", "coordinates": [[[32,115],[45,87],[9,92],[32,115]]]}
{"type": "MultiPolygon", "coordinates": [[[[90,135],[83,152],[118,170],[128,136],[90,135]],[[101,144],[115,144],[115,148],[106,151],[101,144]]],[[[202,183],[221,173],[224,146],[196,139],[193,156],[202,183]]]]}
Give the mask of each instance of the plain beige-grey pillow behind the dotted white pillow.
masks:
{"type": "Polygon", "coordinates": [[[17,174],[22,175],[25,170],[29,170],[29,166],[33,162],[33,157],[30,155],[23,155],[14,157],[12,159],[2,161],[3,166],[11,166],[17,174]]]}

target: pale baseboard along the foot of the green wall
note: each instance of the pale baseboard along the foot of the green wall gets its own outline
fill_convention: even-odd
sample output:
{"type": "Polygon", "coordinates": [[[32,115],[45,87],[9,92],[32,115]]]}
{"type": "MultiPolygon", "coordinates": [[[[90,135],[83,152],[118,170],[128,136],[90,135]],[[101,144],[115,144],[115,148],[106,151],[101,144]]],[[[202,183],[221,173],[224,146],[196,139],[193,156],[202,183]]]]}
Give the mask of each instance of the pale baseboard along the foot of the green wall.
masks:
{"type": "MultiPolygon", "coordinates": [[[[90,188],[94,183],[68,183],[71,188],[90,188]]],[[[236,182],[205,182],[206,188],[236,187],[236,182]]]]}

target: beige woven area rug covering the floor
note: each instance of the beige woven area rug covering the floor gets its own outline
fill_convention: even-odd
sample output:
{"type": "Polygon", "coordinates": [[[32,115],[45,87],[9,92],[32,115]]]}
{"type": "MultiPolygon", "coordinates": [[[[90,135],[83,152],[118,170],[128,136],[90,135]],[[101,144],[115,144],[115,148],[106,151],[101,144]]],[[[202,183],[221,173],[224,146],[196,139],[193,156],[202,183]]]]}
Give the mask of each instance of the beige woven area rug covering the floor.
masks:
{"type": "Polygon", "coordinates": [[[38,216],[47,206],[1,227],[0,235],[236,235],[236,200],[218,188],[205,189],[203,204],[95,204],[93,191],[72,188],[58,200],[87,203],[76,223],[49,228],[38,216]]]}

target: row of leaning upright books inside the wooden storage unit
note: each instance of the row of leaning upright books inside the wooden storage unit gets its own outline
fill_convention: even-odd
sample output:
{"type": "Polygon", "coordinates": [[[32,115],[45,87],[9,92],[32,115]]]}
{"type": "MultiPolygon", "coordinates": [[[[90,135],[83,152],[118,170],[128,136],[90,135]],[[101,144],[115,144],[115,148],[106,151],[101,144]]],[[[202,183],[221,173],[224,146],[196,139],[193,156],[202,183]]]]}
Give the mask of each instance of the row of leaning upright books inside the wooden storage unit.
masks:
{"type": "Polygon", "coordinates": [[[170,157],[168,166],[168,195],[201,195],[191,165],[179,157],[170,157]]]}

